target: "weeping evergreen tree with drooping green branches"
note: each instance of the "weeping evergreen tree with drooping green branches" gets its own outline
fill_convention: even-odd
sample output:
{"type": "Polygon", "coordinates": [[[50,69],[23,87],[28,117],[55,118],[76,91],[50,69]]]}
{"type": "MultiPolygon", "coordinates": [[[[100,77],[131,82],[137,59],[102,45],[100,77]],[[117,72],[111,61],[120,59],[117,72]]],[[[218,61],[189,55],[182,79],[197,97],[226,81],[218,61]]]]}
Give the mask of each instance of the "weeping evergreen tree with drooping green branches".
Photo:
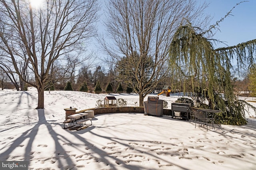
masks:
{"type": "Polygon", "coordinates": [[[178,28],[169,51],[172,81],[184,80],[180,81],[180,87],[184,88],[184,92],[186,84],[190,84],[192,94],[199,93],[198,96],[202,98],[193,97],[201,101],[208,100],[210,109],[222,110],[218,115],[218,123],[243,125],[246,124],[247,103],[238,100],[234,94],[230,71],[234,57],[240,67],[244,66],[245,61],[254,63],[256,39],[232,47],[214,49],[212,39],[207,39],[206,36],[220,21],[210,26],[207,31],[193,27],[191,23],[178,28]]]}

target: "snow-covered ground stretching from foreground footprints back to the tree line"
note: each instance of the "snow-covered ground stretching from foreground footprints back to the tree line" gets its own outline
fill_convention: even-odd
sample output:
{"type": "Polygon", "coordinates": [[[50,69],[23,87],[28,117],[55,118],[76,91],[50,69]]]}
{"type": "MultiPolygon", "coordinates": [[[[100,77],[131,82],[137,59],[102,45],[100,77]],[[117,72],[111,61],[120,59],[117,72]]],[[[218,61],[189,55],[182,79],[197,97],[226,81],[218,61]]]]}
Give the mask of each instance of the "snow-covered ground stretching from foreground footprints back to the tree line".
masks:
{"type": "MultiPolygon", "coordinates": [[[[112,95],[128,106],[139,103],[137,94],[112,95]]],[[[256,169],[256,119],[249,115],[248,125],[210,126],[208,131],[195,128],[194,122],[142,113],[95,115],[86,129],[63,129],[65,108],[93,108],[106,96],[110,95],[46,91],[45,109],[35,109],[36,90],[0,91],[0,160],[27,160],[28,169],[48,170],[256,169]]],[[[170,109],[178,97],[182,96],[160,99],[170,109]]]]}

